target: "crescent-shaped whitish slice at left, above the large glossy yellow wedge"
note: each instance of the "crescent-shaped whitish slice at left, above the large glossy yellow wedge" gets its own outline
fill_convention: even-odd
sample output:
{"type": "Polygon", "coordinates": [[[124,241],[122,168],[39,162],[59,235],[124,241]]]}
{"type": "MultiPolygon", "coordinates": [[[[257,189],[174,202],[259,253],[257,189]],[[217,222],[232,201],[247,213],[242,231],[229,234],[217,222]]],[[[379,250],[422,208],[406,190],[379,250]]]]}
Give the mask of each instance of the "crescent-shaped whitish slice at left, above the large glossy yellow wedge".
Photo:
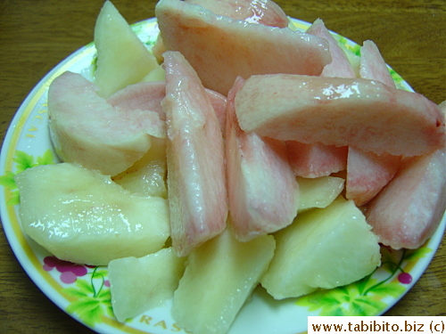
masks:
{"type": "Polygon", "coordinates": [[[165,122],[152,110],[113,107],[78,73],[64,72],[48,90],[51,139],[62,161],[117,175],[141,159],[165,122]]]}

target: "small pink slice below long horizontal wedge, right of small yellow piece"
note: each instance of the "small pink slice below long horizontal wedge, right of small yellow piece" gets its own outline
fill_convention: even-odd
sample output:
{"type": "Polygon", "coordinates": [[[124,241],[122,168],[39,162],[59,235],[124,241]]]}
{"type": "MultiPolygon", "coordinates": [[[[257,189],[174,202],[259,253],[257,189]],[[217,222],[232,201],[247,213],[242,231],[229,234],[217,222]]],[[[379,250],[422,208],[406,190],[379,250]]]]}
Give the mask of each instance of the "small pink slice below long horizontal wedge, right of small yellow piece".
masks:
{"type": "Polygon", "coordinates": [[[401,164],[401,157],[376,155],[349,147],[345,197],[360,207],[373,199],[392,180],[401,164]]]}

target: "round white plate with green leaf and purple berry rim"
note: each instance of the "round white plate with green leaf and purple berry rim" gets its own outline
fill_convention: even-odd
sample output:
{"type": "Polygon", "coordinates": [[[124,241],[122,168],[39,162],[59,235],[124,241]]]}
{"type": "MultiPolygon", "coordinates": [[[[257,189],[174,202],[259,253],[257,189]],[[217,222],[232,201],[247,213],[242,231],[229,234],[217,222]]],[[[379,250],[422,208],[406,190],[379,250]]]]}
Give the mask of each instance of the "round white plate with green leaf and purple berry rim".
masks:
{"type": "MultiPolygon", "coordinates": [[[[310,25],[294,19],[293,24],[301,30],[310,25]]],[[[132,27],[148,47],[153,45],[159,32],[155,19],[136,23],[132,27]]],[[[359,45],[344,37],[335,36],[352,53],[359,53],[359,45]]],[[[17,215],[20,204],[12,176],[25,167],[58,162],[47,126],[48,86],[54,77],[65,70],[79,72],[91,78],[94,62],[93,44],[73,53],[38,83],[13,118],[4,139],[0,160],[0,184],[3,185],[0,189],[0,209],[4,232],[16,257],[39,289],[62,310],[93,330],[107,334],[165,334],[170,331],[186,333],[172,319],[170,305],[147,311],[126,324],[116,322],[111,311],[106,267],[78,265],[74,269],[70,264],[54,266],[54,258],[21,231],[17,215]],[[76,277],[73,272],[83,275],[76,277]]],[[[391,72],[399,88],[411,90],[397,73],[392,69],[391,72]]],[[[307,330],[308,315],[383,314],[424,273],[442,240],[445,225],[446,217],[443,217],[434,236],[417,250],[391,251],[382,248],[384,265],[364,280],[346,287],[285,301],[275,301],[263,289],[256,289],[252,299],[238,314],[229,333],[292,334],[307,330]]]]}

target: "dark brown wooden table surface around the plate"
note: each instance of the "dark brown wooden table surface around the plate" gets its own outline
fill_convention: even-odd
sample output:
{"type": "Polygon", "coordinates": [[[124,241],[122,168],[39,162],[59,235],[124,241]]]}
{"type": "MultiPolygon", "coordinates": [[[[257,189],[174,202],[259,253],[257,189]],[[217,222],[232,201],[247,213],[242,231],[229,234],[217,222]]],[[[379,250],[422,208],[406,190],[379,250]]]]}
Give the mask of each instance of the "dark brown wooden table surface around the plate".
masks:
{"type": "MultiPolygon", "coordinates": [[[[280,0],[301,20],[361,43],[376,42],[384,59],[418,93],[446,99],[444,0],[280,0]]],[[[102,1],[0,2],[0,137],[37,82],[70,53],[93,40],[102,1]]],[[[154,0],[115,0],[129,23],[153,17],[154,0]]],[[[446,243],[413,289],[389,315],[446,315],[446,243]]],[[[16,261],[0,228],[0,333],[87,333],[37,289],[16,261]]]]}

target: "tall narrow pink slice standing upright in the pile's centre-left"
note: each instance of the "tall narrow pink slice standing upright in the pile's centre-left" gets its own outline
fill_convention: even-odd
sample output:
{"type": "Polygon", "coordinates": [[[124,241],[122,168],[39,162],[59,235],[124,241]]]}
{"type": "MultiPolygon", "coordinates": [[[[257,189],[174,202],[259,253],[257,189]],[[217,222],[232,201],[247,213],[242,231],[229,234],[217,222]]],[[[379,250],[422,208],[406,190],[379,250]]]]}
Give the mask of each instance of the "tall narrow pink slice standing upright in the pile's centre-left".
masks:
{"type": "Polygon", "coordinates": [[[170,236],[175,253],[184,257],[226,227],[223,137],[194,69],[181,53],[163,56],[170,236]]]}

